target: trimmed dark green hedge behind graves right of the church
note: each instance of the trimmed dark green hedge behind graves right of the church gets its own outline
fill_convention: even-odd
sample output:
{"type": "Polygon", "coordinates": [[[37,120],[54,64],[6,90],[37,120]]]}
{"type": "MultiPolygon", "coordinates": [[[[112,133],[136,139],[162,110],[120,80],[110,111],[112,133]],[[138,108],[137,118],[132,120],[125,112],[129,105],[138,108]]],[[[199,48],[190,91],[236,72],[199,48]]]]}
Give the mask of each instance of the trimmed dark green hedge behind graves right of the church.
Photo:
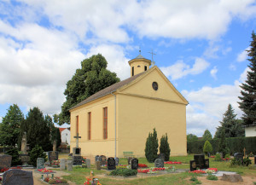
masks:
{"type": "MultiPolygon", "coordinates": [[[[218,139],[208,140],[212,144],[212,153],[218,153],[218,139]]],[[[206,141],[187,142],[188,153],[203,153],[203,147],[206,141]]],[[[246,148],[246,153],[256,154],[256,136],[253,137],[230,137],[227,138],[230,154],[243,153],[243,148],[246,148]]]]}

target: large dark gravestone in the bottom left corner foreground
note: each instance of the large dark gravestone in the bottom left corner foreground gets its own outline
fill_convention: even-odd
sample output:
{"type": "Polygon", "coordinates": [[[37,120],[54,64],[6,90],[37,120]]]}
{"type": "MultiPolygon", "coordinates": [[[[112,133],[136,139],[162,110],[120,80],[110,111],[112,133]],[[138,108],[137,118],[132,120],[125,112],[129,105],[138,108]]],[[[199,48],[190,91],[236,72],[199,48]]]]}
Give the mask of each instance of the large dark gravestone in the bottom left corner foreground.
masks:
{"type": "Polygon", "coordinates": [[[32,171],[11,169],[3,173],[3,185],[33,185],[32,171]]]}

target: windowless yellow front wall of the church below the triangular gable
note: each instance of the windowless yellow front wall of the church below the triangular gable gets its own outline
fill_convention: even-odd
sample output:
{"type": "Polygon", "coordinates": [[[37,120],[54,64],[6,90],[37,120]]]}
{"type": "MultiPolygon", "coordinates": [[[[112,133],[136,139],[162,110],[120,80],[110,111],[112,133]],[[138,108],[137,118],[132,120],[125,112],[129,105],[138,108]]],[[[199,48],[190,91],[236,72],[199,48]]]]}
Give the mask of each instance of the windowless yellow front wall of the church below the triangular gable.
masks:
{"type": "Polygon", "coordinates": [[[119,156],[131,151],[144,157],[148,133],[154,128],[159,146],[160,137],[167,133],[171,155],[187,155],[185,105],[119,95],[119,156]]]}

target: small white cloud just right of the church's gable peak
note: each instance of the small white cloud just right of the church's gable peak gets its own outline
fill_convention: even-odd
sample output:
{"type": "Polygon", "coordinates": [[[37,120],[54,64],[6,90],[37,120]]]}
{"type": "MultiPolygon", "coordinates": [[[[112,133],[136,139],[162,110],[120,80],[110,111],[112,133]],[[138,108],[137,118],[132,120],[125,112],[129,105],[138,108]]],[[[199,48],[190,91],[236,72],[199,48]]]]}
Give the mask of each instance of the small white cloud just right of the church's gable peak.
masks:
{"type": "Polygon", "coordinates": [[[166,77],[171,77],[172,80],[183,78],[189,74],[195,75],[200,74],[209,66],[209,62],[202,58],[196,58],[193,66],[185,64],[183,61],[177,61],[172,66],[162,66],[161,71],[164,72],[166,77]]]}

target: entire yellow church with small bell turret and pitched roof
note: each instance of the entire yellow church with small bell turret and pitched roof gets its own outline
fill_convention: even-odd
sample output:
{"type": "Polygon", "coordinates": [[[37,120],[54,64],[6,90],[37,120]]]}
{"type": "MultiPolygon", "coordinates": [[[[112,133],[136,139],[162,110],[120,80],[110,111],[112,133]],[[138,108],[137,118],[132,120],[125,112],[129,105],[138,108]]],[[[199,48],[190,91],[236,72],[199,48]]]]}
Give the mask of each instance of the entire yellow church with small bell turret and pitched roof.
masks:
{"type": "MultiPolygon", "coordinates": [[[[81,155],[123,158],[123,152],[145,157],[148,133],[158,141],[167,133],[171,155],[187,155],[186,106],[157,66],[138,55],[129,61],[131,78],[100,90],[70,109],[71,146],[79,138],[81,155]]],[[[160,143],[159,143],[160,146],[160,143]]]]}

